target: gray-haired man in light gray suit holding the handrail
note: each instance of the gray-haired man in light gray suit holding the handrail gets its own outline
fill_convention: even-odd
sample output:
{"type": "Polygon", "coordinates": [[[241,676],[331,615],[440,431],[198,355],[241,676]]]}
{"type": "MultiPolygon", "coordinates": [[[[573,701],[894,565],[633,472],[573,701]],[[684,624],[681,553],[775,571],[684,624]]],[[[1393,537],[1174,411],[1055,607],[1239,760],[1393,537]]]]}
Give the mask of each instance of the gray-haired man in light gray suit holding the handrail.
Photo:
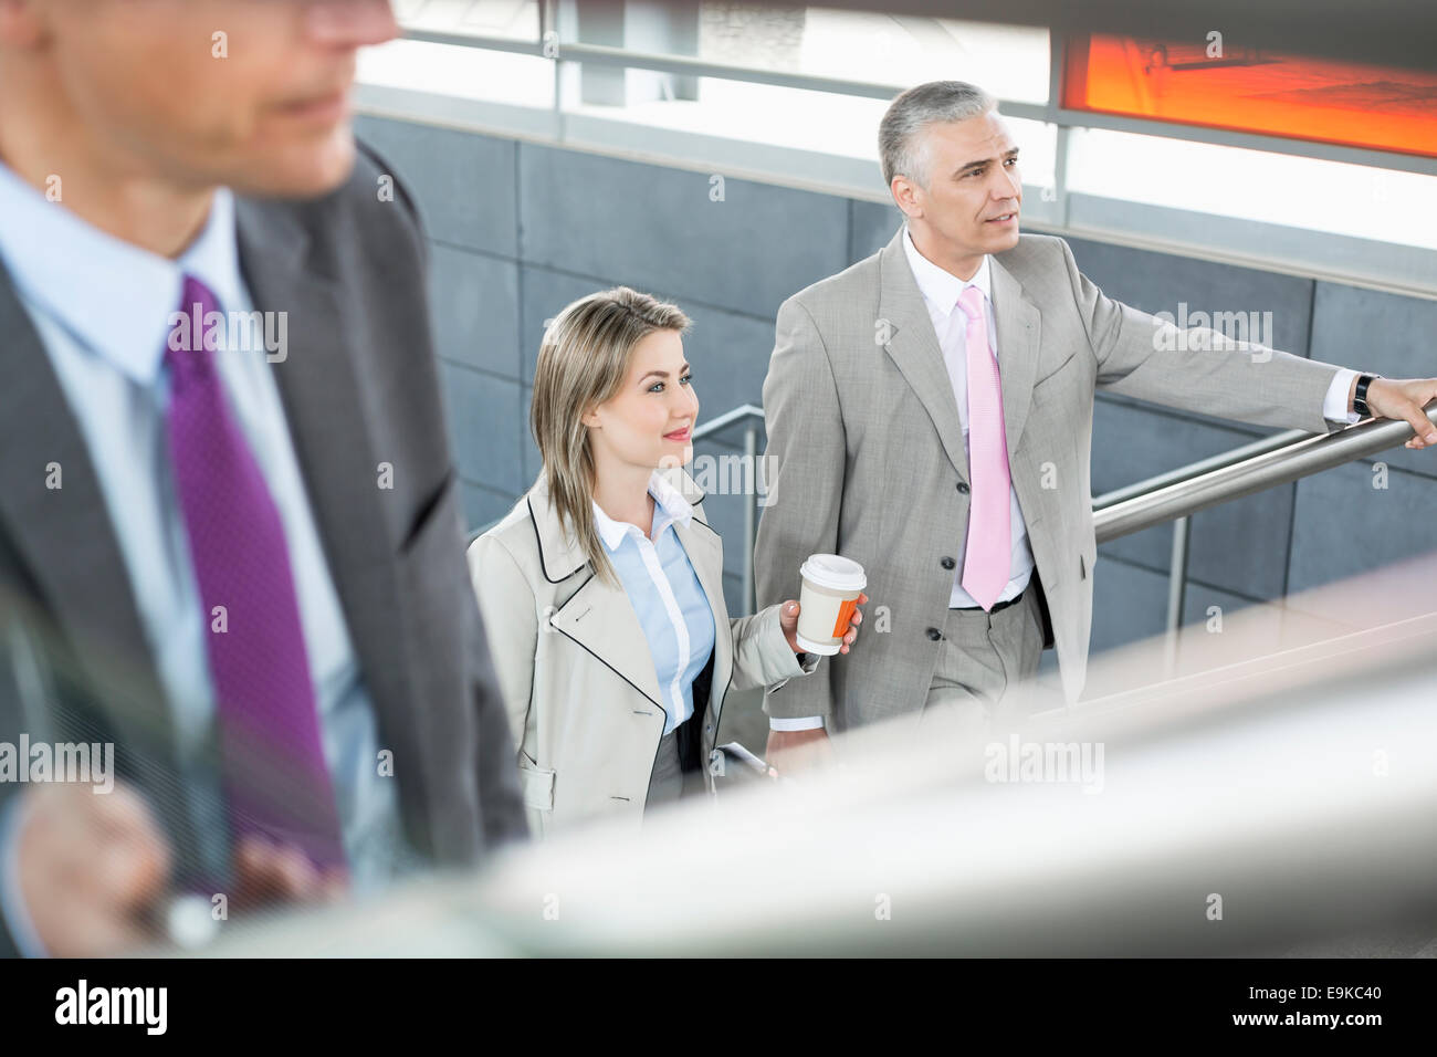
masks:
{"type": "Polygon", "coordinates": [[[861,562],[874,633],[767,695],[770,758],[802,765],[829,726],[938,708],[981,732],[1048,647],[1078,697],[1096,388],[1313,433],[1365,411],[1437,444],[1421,410],[1437,380],[1181,332],[1104,296],[1062,239],[1020,236],[1017,145],[981,89],[904,92],[879,154],[904,229],[779,309],[756,552],[760,605],[792,594],[810,552],[861,562]]]}

